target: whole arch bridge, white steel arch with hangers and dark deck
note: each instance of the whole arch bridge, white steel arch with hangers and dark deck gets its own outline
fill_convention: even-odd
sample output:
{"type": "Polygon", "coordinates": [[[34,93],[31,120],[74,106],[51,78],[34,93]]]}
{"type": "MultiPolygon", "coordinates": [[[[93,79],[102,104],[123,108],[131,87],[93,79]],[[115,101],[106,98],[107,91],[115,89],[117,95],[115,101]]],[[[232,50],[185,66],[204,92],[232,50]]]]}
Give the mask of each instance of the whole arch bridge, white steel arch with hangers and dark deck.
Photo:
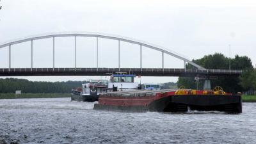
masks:
{"type": "Polygon", "coordinates": [[[36,35],[36,36],[29,36],[27,38],[20,38],[18,40],[11,40],[9,42],[4,42],[0,44],[0,49],[3,47],[8,47],[8,56],[9,56],[9,67],[8,68],[0,68],[0,76],[70,76],[70,75],[78,75],[78,76],[104,76],[105,73],[109,72],[135,72],[136,74],[144,75],[144,76],[180,76],[180,74],[189,73],[189,74],[209,74],[209,72],[219,73],[219,74],[239,74],[240,71],[232,71],[228,72],[227,70],[207,70],[200,65],[197,65],[193,61],[184,58],[184,56],[180,56],[169,49],[165,49],[164,47],[149,44],[148,42],[143,42],[141,40],[135,40],[132,38],[127,38],[124,36],[118,35],[109,35],[104,33],[88,33],[88,32],[74,32],[74,33],[51,33],[45,35],[36,35]],[[55,38],[57,37],[67,37],[72,36],[74,37],[74,53],[75,53],[75,60],[74,60],[74,67],[73,68],[56,68],[55,67],[55,38]],[[77,36],[82,37],[93,37],[96,38],[97,42],[97,67],[96,68],[77,68],[76,61],[77,61],[77,36]],[[34,40],[41,40],[45,38],[52,38],[52,67],[51,68],[33,68],[33,41],[34,40]],[[99,68],[99,38],[107,38],[110,40],[117,40],[118,41],[118,68],[99,68]],[[11,65],[11,49],[12,45],[20,44],[23,42],[31,42],[31,68],[12,68],[11,65]],[[140,68],[120,68],[120,42],[128,42],[130,44],[140,45],[140,68]],[[142,67],[142,47],[148,47],[150,49],[154,49],[162,53],[162,68],[143,68],[142,67]],[[186,70],[186,68],[164,68],[164,54],[173,56],[178,58],[179,60],[184,61],[184,64],[189,63],[196,67],[196,70],[186,70]]]}

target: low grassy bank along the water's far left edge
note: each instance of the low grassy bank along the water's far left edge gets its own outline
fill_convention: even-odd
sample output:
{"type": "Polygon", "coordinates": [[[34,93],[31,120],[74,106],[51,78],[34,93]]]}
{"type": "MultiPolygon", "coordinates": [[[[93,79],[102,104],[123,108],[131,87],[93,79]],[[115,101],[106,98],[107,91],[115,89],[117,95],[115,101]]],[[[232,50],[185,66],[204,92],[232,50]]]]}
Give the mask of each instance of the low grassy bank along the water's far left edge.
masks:
{"type": "Polygon", "coordinates": [[[0,99],[28,99],[28,98],[58,98],[70,97],[70,93],[22,93],[15,95],[15,93],[0,93],[0,99]]]}

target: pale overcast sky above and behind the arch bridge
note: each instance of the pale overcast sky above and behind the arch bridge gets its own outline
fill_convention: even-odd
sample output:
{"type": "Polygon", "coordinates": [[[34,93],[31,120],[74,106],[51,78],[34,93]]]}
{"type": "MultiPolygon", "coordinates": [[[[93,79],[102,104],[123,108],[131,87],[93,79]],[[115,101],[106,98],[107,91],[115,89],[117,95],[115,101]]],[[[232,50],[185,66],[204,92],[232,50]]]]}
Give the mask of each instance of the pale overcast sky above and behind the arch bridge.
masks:
{"type": "MultiPolygon", "coordinates": [[[[248,56],[256,64],[256,2],[163,0],[1,0],[0,44],[17,38],[70,31],[108,33],[143,40],[189,60],[221,52],[248,56]]],[[[12,46],[12,67],[30,67],[30,43],[12,46]]],[[[121,42],[121,67],[140,67],[140,47],[121,42]]],[[[52,40],[35,40],[33,66],[52,67],[52,40]]],[[[96,67],[95,38],[77,38],[77,67],[96,67]]],[[[74,37],[56,38],[55,67],[74,67],[74,37]]],[[[161,52],[143,47],[143,67],[160,68],[161,52]]],[[[8,48],[0,49],[0,68],[8,67],[8,48]]],[[[118,67],[118,42],[99,39],[99,67],[118,67]]],[[[165,68],[184,62],[164,55],[165,68]]],[[[4,78],[4,77],[2,77],[4,78]]],[[[17,77],[31,81],[82,81],[106,77],[17,77]]],[[[108,77],[107,77],[108,79],[108,77]]],[[[177,77],[141,77],[166,83],[177,77]]]]}

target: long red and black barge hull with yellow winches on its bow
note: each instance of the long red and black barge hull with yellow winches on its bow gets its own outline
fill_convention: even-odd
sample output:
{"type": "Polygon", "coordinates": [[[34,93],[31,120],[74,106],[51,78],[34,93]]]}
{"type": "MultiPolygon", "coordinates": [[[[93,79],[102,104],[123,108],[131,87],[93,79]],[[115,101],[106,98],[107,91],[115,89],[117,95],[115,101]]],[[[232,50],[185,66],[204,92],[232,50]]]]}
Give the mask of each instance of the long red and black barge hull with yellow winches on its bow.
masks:
{"type": "Polygon", "coordinates": [[[242,113],[241,95],[225,93],[220,88],[205,90],[132,90],[100,95],[96,110],[131,112],[224,111],[242,113]]]}

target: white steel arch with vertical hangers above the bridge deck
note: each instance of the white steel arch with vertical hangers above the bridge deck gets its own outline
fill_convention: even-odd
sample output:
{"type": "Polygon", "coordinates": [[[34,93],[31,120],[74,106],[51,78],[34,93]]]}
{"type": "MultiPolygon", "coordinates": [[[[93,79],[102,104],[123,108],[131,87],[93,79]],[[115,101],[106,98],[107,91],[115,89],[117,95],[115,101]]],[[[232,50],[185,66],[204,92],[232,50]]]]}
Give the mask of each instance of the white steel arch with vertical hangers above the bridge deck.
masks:
{"type": "Polygon", "coordinates": [[[89,33],[89,32],[66,32],[66,33],[50,33],[50,34],[44,34],[44,35],[36,35],[36,36],[29,36],[27,38],[20,38],[17,40],[11,40],[9,42],[4,42],[0,44],[0,49],[3,47],[9,47],[9,69],[11,68],[11,47],[14,44],[20,44],[22,42],[29,42],[31,41],[31,68],[33,68],[33,40],[40,40],[44,38],[52,38],[52,47],[53,47],[53,68],[54,68],[54,38],[56,37],[67,37],[67,36],[74,36],[75,37],[75,68],[76,68],[76,37],[77,36],[83,36],[83,37],[95,37],[97,38],[97,68],[98,68],[98,38],[108,38],[111,40],[118,40],[118,68],[120,68],[120,41],[128,42],[131,44],[137,44],[140,45],[140,68],[142,68],[142,56],[141,56],[141,47],[148,47],[150,49],[154,49],[156,51],[162,52],[162,67],[164,68],[164,54],[168,54],[170,56],[173,56],[175,58],[178,58],[179,60],[184,61],[184,63],[189,63],[199,70],[206,70],[204,67],[201,67],[200,65],[197,65],[193,61],[188,60],[187,58],[184,58],[183,56],[180,56],[179,54],[170,51],[169,49],[165,49],[164,47],[149,44],[148,42],[143,42],[141,40],[135,40],[133,38],[127,38],[124,36],[118,36],[118,35],[109,35],[105,33],[89,33]]]}

